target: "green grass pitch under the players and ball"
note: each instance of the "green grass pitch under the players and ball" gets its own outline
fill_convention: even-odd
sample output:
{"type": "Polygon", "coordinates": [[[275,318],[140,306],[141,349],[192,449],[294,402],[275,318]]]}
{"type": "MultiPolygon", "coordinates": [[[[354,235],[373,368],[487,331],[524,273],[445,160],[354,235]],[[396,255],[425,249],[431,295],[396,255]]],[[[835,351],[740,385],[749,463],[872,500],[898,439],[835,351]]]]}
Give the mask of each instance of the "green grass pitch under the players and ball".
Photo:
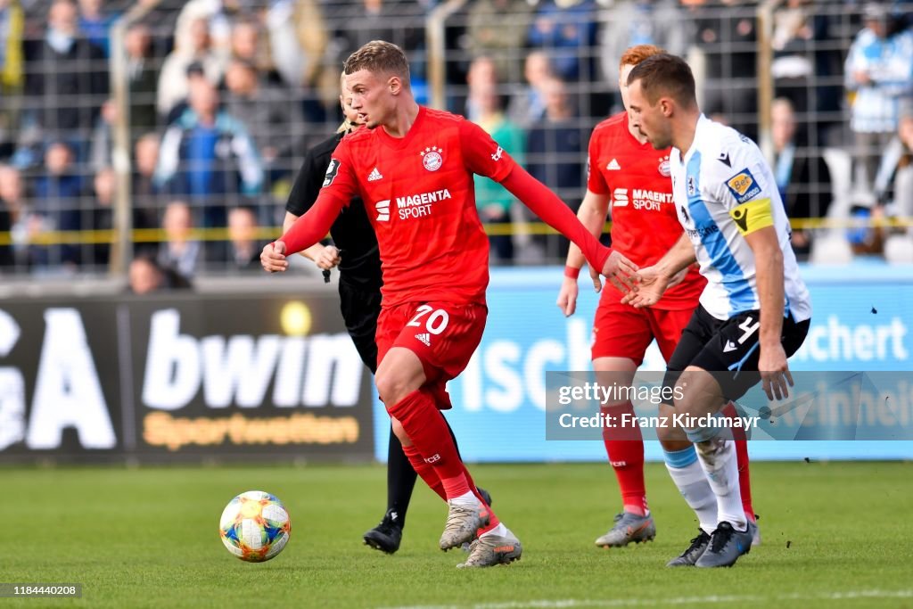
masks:
{"type": "Polygon", "coordinates": [[[81,599],[0,607],[913,607],[910,463],[752,464],[763,543],[712,571],[664,566],[696,524],[660,464],[646,470],[656,541],[615,550],[593,546],[620,507],[608,465],[472,470],[523,541],[520,562],[457,570],[427,488],[397,554],[363,546],[383,514],[381,466],[0,467],[0,582],[83,584],[81,599]],[[291,514],[271,562],[219,541],[226,502],[250,489],[291,514]]]}

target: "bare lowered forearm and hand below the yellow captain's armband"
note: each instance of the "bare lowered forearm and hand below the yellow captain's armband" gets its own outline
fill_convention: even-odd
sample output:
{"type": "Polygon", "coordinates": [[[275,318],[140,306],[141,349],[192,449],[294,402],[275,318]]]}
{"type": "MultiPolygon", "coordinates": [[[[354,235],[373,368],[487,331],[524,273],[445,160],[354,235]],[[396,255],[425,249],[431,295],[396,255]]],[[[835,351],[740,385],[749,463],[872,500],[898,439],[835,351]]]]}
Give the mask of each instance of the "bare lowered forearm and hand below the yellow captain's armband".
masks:
{"type": "Polygon", "coordinates": [[[781,335],[786,297],[783,287],[783,252],[773,226],[764,226],[745,235],[754,254],[761,300],[761,354],[758,370],[767,398],[780,400],[789,396],[792,374],[786,362],[781,335]]]}

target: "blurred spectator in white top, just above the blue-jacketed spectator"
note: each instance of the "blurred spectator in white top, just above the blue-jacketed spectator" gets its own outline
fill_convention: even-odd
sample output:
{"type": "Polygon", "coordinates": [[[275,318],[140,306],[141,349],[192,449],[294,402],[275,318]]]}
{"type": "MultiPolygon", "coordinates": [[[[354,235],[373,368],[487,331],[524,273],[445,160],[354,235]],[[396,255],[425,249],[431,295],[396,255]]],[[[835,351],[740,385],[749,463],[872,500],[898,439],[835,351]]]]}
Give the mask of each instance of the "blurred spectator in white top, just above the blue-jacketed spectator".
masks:
{"type": "Polygon", "coordinates": [[[166,117],[174,106],[187,98],[190,84],[187,68],[199,64],[206,79],[213,85],[222,81],[226,68],[226,54],[213,47],[209,37],[209,22],[197,17],[190,22],[185,33],[179,32],[174,39],[174,50],[165,58],[159,74],[158,99],[156,108],[166,117]]]}

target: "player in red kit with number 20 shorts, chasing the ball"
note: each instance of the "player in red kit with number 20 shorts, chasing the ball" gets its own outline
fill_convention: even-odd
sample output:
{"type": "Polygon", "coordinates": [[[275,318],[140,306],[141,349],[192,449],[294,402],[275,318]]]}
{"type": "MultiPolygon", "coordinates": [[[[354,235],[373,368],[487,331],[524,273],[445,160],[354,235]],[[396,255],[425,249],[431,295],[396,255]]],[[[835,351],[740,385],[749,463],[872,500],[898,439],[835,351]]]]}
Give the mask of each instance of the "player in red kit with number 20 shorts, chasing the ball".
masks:
{"type": "Polygon", "coordinates": [[[394,432],[419,476],[448,505],[442,550],[477,536],[461,566],[519,559],[519,540],[480,498],[438,409],[445,383],[466,367],[485,328],[488,237],[476,210],[473,173],[502,184],[542,220],[582,247],[618,287],[636,267],[603,247],[555,194],[523,170],[476,124],[415,102],[409,65],[395,45],[373,41],[346,62],[352,108],[367,129],[332,154],[317,201],[274,244],[263,268],[326,235],[353,194],[361,194],[377,235],[383,301],[374,377],[394,432]]]}

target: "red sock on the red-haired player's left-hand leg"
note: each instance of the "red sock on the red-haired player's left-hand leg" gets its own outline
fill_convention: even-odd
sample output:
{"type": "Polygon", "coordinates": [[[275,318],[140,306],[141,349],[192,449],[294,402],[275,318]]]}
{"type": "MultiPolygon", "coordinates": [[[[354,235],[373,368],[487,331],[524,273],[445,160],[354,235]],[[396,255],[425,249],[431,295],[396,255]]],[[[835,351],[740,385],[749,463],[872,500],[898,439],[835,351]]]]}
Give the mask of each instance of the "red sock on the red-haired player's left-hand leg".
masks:
{"type": "MultiPolygon", "coordinates": [[[[603,415],[612,415],[620,421],[623,413],[635,420],[634,406],[630,402],[603,408],[603,415]]],[[[644,436],[638,425],[604,427],[603,442],[609,463],[618,478],[625,511],[643,515],[646,513],[646,485],[644,483],[644,436]]]]}

